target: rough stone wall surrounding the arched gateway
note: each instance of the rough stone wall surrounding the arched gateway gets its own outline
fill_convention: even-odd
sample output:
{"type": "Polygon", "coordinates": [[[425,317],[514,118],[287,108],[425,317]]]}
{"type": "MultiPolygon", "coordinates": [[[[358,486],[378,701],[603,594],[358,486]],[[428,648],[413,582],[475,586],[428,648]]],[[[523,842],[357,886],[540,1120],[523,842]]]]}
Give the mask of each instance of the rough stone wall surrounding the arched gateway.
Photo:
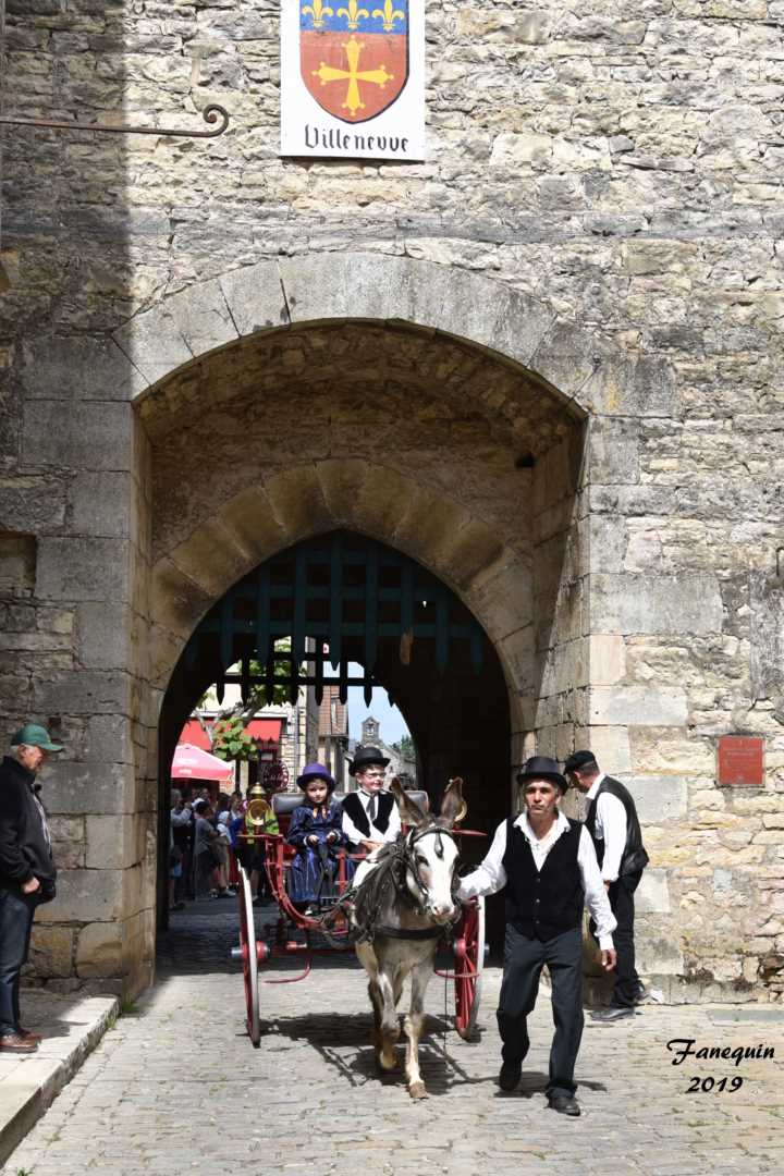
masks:
{"type": "MultiPolygon", "coordinates": [[[[148,974],[139,960],[152,951],[166,682],[145,661],[156,608],[147,573],[176,528],[153,476],[163,417],[145,394],[175,373],[166,413],[197,427],[220,389],[199,382],[194,355],[254,329],[360,315],[444,329],[538,374],[517,399],[501,367],[465,385],[470,401],[453,388],[451,440],[480,406],[497,452],[517,459],[531,406],[544,407],[542,428],[556,413],[542,389],[577,397],[585,448],[558,453],[554,436],[547,461],[577,468],[579,492],[563,481],[549,492],[544,460],[525,475],[538,612],[531,597],[528,617],[497,634],[514,759],[538,729],[541,750],[589,742],[629,780],[654,858],[645,965],[674,977],[674,998],[773,997],[784,962],[780,4],[651,0],[630,14],[612,2],[429,0],[427,13],[430,158],[359,166],[276,156],[268,0],[8,0],[6,113],[196,126],[219,101],[233,116],[208,142],[5,132],[0,701],[6,730],[28,714],[60,720],[69,760],[51,797],[72,863],[63,902],[76,903],[73,920],[41,928],[58,961],[41,969],[87,980],[94,956],[107,976],[133,973],[132,984],[148,974]],[[389,288],[370,283],[357,253],[388,263],[389,288]],[[261,288],[243,295],[276,258],[284,305],[280,278],[266,300],[261,288]],[[269,315],[242,319],[262,306],[269,315]],[[554,597],[555,622],[540,607],[554,597]],[[763,789],[717,788],[725,731],[764,736],[763,789]],[[108,850],[91,822],[119,816],[108,850]],[[91,936],[110,940],[107,955],[91,936]]],[[[281,362],[296,368],[308,346],[292,340],[281,362]]],[[[256,373],[256,395],[294,445],[286,403],[256,373]]],[[[435,372],[433,403],[449,390],[435,372]]],[[[337,457],[322,456],[354,457],[347,437],[337,457]]],[[[276,485],[284,497],[284,479],[276,485]]],[[[508,515],[518,487],[505,492],[508,515]]],[[[488,574],[485,626],[502,597],[524,595],[522,575],[511,553],[488,574]]],[[[166,583],[176,612],[182,580],[166,583]]]]}

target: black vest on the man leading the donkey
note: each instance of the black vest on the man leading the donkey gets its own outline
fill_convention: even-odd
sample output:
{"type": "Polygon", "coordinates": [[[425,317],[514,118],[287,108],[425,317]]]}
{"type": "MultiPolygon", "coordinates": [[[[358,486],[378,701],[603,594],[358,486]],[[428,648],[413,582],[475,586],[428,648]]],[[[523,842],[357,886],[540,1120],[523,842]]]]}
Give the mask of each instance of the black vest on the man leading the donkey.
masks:
{"type": "Polygon", "coordinates": [[[579,927],[585,906],[577,864],[581,833],[579,821],[569,821],[540,873],[528,837],[511,817],[507,822],[507,922],[521,935],[545,941],[579,927]]]}

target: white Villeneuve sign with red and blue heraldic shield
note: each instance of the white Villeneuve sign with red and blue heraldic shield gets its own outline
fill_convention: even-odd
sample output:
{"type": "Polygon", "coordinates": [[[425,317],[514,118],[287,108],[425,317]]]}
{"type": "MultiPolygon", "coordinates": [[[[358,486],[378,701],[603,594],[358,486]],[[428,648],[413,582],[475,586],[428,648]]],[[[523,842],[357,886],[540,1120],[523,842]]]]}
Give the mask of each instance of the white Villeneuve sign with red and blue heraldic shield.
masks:
{"type": "Polygon", "coordinates": [[[424,0],[282,0],[281,154],[424,156],[424,0]]]}

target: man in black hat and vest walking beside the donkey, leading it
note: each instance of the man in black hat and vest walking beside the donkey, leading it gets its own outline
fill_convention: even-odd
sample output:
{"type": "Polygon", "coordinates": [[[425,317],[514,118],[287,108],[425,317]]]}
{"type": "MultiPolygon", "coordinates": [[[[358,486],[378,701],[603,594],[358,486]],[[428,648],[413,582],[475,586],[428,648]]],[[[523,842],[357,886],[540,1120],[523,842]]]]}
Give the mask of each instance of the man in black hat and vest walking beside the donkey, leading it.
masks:
{"type": "Polygon", "coordinates": [[[588,906],[596,920],[602,967],[615,965],[615,918],[602,886],[594,843],[578,821],[558,811],[567,781],[555,760],[536,755],[517,780],[525,807],[498,826],[490,851],[460,887],[461,898],[507,888],[507,938],[498,1031],[502,1090],[520,1082],[529,1050],[528,1016],[536,1004],[542,968],[552,984],[555,1035],[550,1049],[548,1103],[579,1115],[575,1062],[583,1034],[582,922],[588,906]]]}

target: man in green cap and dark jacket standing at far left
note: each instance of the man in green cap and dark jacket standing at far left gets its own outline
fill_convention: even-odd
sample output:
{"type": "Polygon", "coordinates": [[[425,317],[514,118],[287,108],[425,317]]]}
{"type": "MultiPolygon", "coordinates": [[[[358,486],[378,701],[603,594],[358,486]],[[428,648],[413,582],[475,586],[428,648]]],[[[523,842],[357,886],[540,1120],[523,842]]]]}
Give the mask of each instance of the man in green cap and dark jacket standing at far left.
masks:
{"type": "Polygon", "coordinates": [[[15,1054],[34,1053],[40,1041],[19,1021],[19,976],[35,908],[54,897],[52,838],[34,789],[51,751],[62,747],[43,727],[27,723],[0,766],[0,1050],[15,1054]]]}

